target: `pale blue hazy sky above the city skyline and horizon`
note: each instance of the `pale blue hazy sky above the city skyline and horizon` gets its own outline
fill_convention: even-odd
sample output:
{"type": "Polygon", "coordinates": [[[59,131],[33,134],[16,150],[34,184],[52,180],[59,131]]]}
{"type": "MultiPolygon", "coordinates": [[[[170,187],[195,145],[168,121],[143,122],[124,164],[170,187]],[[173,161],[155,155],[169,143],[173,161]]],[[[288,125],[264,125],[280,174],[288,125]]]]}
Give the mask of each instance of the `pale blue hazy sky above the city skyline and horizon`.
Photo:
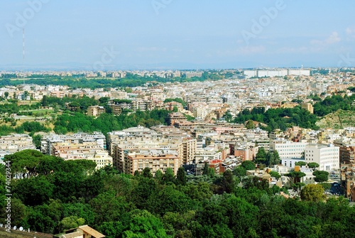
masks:
{"type": "Polygon", "coordinates": [[[0,0],[0,70],[354,67],[354,9],[354,0],[0,0]]]}

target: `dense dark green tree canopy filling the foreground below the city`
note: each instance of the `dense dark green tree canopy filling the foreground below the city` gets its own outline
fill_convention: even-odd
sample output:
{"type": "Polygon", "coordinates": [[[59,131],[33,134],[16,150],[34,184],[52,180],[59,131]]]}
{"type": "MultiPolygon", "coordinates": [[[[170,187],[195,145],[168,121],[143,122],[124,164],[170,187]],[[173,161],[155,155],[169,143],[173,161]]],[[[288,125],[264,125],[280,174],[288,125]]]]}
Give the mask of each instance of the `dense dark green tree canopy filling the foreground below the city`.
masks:
{"type": "MultiPolygon", "coordinates": [[[[209,173],[134,176],[114,168],[93,171],[91,161],[63,161],[38,151],[6,156],[11,163],[11,224],[58,234],[89,225],[114,237],[354,237],[355,207],[344,198],[324,200],[322,187],[305,186],[301,197],[275,195],[257,177],[209,173]],[[25,167],[23,167],[25,166],[25,167]]],[[[244,164],[245,167],[255,165],[244,164]]],[[[0,168],[0,217],[5,172],[0,168]]]]}

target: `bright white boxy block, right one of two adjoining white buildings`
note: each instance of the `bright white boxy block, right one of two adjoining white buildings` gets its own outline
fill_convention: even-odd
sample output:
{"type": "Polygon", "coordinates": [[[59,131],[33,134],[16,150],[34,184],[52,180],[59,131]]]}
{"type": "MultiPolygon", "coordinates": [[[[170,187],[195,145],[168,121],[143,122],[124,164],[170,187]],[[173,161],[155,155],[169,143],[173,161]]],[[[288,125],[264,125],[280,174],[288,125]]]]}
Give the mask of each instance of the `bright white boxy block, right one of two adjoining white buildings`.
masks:
{"type": "Polygon", "coordinates": [[[333,144],[310,144],[305,147],[305,162],[320,165],[320,171],[339,169],[339,146],[333,144]]]}

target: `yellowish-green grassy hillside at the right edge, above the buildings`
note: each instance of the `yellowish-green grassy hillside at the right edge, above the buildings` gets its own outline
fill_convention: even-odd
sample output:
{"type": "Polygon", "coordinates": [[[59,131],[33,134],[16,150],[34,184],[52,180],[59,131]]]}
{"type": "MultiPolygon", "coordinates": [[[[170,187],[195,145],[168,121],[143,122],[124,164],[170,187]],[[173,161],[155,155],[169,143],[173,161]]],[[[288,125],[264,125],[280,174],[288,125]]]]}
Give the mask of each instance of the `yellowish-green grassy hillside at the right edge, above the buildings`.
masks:
{"type": "Polygon", "coordinates": [[[325,117],[316,122],[320,128],[344,129],[344,127],[354,126],[355,111],[337,110],[327,114],[325,117]]]}

